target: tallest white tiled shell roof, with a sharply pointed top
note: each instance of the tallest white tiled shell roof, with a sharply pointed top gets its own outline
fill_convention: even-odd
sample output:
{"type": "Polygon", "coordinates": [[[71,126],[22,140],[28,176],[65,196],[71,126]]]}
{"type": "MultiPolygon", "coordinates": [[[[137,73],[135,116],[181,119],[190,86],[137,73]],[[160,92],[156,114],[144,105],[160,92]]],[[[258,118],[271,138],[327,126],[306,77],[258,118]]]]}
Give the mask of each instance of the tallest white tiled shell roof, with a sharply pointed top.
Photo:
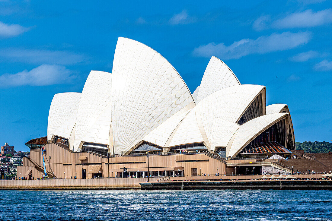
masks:
{"type": "Polygon", "coordinates": [[[150,47],[119,37],[112,73],[112,129],[116,154],[194,102],[173,66],[150,47]]]}

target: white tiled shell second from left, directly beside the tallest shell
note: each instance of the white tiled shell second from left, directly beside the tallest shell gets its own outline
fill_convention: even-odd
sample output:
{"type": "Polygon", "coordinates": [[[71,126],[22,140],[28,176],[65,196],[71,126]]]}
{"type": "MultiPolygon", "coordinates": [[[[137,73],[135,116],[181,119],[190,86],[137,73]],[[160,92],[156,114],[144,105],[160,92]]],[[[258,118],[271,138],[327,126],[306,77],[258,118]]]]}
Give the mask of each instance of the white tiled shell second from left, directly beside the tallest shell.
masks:
{"type": "Polygon", "coordinates": [[[74,151],[79,150],[84,137],[89,142],[95,141],[96,143],[109,144],[110,128],[106,127],[111,123],[112,117],[111,115],[100,115],[111,101],[111,86],[111,73],[103,71],[90,72],[85,82],[77,111],[74,151]],[[96,122],[97,119],[98,122],[96,122]],[[101,121],[103,121],[102,124],[95,125],[101,121]],[[102,131],[102,129],[107,129],[107,131],[102,131]],[[95,134],[98,134],[98,136],[95,136],[95,134]]]}

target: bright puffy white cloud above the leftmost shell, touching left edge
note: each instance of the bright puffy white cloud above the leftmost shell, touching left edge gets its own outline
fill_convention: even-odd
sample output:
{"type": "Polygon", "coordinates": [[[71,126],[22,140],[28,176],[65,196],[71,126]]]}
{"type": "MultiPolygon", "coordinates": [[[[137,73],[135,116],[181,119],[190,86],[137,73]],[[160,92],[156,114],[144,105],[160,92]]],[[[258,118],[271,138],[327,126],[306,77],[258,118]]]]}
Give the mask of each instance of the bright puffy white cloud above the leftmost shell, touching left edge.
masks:
{"type": "Polygon", "coordinates": [[[8,86],[43,86],[69,82],[75,76],[62,65],[42,64],[30,71],[24,70],[16,74],[0,76],[2,87],[8,86]]]}

